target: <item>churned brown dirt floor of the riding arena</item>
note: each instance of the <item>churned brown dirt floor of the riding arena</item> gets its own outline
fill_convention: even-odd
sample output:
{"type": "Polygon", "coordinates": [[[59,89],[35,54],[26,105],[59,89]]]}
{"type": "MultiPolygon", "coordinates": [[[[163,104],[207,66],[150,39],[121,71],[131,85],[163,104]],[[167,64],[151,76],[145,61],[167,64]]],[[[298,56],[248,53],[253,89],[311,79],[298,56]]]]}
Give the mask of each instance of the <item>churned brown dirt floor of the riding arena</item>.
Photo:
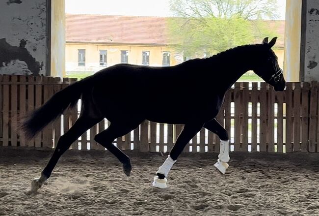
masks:
{"type": "Polygon", "coordinates": [[[225,175],[217,154],[182,154],[159,189],[151,183],[166,156],[127,152],[127,177],[107,151],[68,151],[48,185],[25,195],[51,153],[0,148],[0,215],[319,216],[319,154],[232,153],[225,175]]]}

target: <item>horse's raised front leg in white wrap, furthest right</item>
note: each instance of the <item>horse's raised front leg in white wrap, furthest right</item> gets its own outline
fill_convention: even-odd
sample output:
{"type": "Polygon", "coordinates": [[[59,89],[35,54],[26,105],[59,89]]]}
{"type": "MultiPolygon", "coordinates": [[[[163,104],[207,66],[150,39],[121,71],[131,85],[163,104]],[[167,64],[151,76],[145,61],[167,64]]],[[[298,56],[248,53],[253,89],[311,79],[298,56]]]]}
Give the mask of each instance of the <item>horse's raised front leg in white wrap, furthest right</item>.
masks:
{"type": "Polygon", "coordinates": [[[204,128],[212,131],[217,134],[220,139],[220,149],[218,154],[218,160],[214,164],[214,166],[222,173],[226,173],[226,169],[228,168],[228,162],[230,160],[229,157],[229,137],[227,130],[217,122],[216,119],[205,123],[204,128]]]}

